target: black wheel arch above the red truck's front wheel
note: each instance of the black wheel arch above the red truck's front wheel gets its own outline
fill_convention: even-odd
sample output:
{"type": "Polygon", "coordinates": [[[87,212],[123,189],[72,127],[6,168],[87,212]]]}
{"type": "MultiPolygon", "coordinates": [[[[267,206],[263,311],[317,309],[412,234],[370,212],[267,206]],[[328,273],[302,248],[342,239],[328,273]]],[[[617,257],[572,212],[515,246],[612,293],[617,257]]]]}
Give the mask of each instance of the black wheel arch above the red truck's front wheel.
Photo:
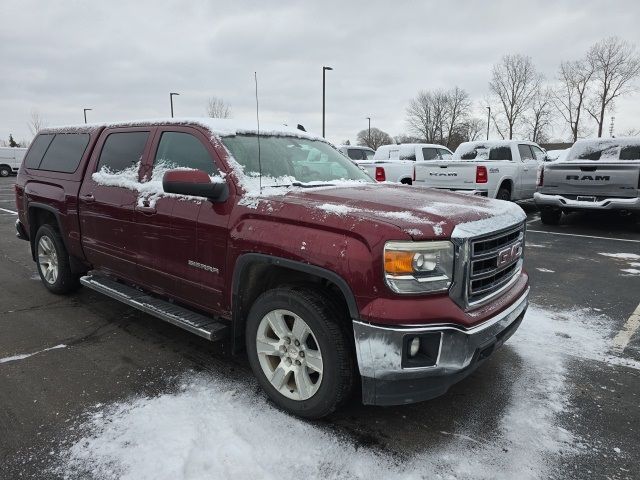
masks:
{"type": "MultiPolygon", "coordinates": [[[[243,285],[250,281],[249,275],[256,268],[259,271],[275,267],[281,273],[289,271],[295,280],[301,280],[305,276],[311,276],[315,280],[324,280],[337,288],[342,294],[342,300],[349,312],[351,319],[359,318],[358,305],[355,296],[347,282],[337,273],[326,268],[318,267],[308,263],[290,260],[282,257],[275,257],[261,253],[245,253],[236,260],[232,286],[231,286],[231,315],[233,329],[233,351],[237,352],[243,346],[244,326],[248,309],[253,300],[257,298],[264,288],[249,287],[249,292],[243,295],[243,285]],[[297,274],[297,275],[296,275],[297,274]],[[252,298],[253,297],[253,298],[252,298]]],[[[268,282],[268,280],[267,280],[268,282]]],[[[286,283],[286,282],[285,282],[286,283]]]]}

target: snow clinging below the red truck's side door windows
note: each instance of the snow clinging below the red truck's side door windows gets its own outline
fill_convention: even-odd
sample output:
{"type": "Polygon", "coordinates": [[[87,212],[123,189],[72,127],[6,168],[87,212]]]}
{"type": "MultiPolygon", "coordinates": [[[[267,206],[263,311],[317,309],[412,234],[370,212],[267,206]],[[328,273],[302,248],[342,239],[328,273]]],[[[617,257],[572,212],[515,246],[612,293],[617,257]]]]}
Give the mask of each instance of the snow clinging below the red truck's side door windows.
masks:
{"type": "MultiPolygon", "coordinates": [[[[143,178],[142,181],[138,180],[138,172],[140,171],[140,163],[132,165],[125,170],[114,173],[107,167],[102,167],[100,171],[91,175],[94,182],[99,185],[108,187],[121,187],[133,190],[138,193],[139,207],[149,206],[155,207],[156,202],[163,197],[178,198],[180,200],[191,200],[195,202],[201,202],[202,197],[193,197],[189,195],[177,195],[174,193],[167,193],[162,187],[162,178],[164,174],[169,170],[192,170],[184,167],[173,167],[166,163],[159,163],[154,165],[151,178],[143,178]]],[[[222,183],[224,178],[221,175],[215,175],[209,177],[213,183],[222,183]]]]}

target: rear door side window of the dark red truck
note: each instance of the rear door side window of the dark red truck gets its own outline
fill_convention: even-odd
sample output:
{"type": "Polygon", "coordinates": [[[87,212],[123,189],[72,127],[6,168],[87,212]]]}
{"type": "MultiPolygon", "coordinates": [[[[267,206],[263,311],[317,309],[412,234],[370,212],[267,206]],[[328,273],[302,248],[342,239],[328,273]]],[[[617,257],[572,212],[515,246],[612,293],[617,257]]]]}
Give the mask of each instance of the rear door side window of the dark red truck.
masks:
{"type": "Polygon", "coordinates": [[[96,171],[118,173],[135,167],[142,160],[149,132],[111,133],[104,142],[96,171]]]}

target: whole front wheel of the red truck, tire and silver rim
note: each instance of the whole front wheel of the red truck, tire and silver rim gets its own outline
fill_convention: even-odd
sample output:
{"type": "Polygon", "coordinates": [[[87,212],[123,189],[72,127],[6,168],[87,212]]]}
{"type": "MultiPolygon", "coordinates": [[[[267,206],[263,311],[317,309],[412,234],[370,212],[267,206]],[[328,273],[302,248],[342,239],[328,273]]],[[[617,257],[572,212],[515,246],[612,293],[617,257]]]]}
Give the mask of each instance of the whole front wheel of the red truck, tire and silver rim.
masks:
{"type": "Polygon", "coordinates": [[[255,301],[246,345],[254,375],[280,408],[320,418],[349,398],[354,363],[348,319],[306,288],[276,288],[255,301]]]}

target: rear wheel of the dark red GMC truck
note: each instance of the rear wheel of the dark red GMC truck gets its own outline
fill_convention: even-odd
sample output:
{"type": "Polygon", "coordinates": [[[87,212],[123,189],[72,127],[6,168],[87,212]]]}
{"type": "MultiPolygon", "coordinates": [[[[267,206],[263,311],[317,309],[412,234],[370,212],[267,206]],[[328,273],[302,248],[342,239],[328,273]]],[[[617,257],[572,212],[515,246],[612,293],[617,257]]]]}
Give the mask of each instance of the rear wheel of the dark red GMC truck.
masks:
{"type": "Polygon", "coordinates": [[[78,276],[71,271],[69,254],[58,231],[45,224],[38,229],[35,238],[36,263],[44,286],[58,295],[78,289],[78,276]]]}

